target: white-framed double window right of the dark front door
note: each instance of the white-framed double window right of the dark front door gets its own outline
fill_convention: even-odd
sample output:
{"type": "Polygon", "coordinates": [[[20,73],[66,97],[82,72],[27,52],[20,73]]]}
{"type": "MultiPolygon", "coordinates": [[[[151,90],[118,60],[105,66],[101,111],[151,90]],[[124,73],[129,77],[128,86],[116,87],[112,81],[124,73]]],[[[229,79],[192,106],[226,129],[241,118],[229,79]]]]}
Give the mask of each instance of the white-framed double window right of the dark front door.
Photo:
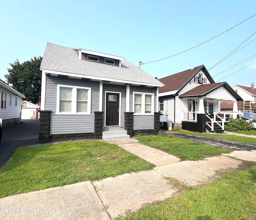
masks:
{"type": "Polygon", "coordinates": [[[133,92],[134,114],[154,114],[154,94],[133,92]]]}

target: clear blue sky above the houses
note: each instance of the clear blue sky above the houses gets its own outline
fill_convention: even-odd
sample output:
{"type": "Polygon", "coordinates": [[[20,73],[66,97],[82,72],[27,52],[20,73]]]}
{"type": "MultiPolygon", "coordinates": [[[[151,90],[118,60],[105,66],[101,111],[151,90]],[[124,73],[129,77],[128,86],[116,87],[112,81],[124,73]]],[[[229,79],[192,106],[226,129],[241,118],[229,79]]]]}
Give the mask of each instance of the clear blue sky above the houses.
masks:
{"type": "MultiPolygon", "coordinates": [[[[43,56],[47,42],[122,56],[138,65],[192,48],[254,14],[255,0],[0,0],[0,79],[16,59],[43,56]]],[[[255,32],[253,16],[201,46],[141,68],[158,78],[202,64],[209,70],[255,32]]],[[[209,70],[215,82],[256,84],[255,39],[256,34],[209,70]]]]}

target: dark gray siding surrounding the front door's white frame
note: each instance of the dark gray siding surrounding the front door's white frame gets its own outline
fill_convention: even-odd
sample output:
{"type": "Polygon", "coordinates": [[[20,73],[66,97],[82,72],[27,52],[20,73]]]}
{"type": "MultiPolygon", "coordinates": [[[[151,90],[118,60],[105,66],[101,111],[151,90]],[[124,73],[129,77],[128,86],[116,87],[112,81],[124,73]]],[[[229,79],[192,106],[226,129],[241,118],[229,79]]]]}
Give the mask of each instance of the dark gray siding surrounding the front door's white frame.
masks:
{"type": "Polygon", "coordinates": [[[103,84],[103,94],[102,94],[102,111],[103,114],[103,124],[105,124],[105,91],[109,92],[121,92],[121,127],[124,127],[124,112],[126,111],[126,86],[119,85],[111,85],[111,84],[103,84]]]}

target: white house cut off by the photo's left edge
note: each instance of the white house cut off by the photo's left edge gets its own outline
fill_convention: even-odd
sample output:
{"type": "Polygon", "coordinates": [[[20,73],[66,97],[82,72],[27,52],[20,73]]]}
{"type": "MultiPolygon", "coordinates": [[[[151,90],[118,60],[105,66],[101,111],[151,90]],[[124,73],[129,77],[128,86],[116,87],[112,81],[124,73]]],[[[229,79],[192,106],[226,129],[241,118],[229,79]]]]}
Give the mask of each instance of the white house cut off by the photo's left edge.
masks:
{"type": "Polygon", "coordinates": [[[25,96],[2,80],[0,80],[0,96],[0,116],[3,120],[3,127],[20,123],[21,99],[25,96]]]}

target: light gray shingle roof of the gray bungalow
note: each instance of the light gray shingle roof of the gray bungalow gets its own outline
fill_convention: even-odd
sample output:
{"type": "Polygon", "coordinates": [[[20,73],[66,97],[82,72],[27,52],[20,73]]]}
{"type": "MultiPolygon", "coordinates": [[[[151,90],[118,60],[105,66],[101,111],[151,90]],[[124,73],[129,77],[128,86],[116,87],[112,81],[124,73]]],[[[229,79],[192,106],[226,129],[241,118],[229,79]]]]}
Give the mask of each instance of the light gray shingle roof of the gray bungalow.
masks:
{"type": "MultiPolygon", "coordinates": [[[[140,69],[135,64],[122,60],[122,66],[113,66],[80,60],[73,48],[47,43],[41,63],[41,70],[52,70],[62,73],[80,74],[100,78],[109,78],[113,81],[124,80],[140,84],[154,84],[163,86],[156,78],[140,69]]],[[[88,77],[88,78],[89,78],[88,77]]]]}

